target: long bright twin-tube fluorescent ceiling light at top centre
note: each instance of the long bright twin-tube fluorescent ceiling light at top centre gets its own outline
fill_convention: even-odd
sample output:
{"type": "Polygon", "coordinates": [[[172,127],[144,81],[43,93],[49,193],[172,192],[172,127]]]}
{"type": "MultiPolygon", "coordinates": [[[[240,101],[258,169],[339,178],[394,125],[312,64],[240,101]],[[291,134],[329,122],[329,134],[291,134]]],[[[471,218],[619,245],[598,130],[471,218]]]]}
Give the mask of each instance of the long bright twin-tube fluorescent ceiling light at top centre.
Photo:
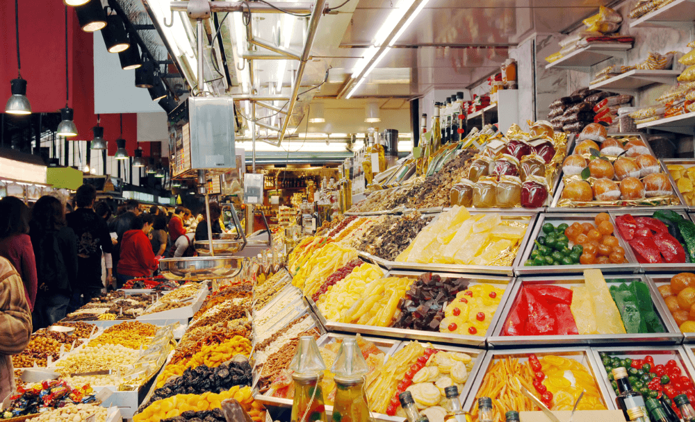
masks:
{"type": "Polygon", "coordinates": [[[391,40],[389,40],[388,46],[384,46],[384,42],[389,38],[389,35],[393,33],[393,30],[398,26],[399,22],[402,21],[403,17],[407,14],[408,10],[416,3],[418,0],[401,0],[400,3],[398,4],[398,7],[395,8],[392,12],[391,15],[387,19],[384,20],[384,24],[382,25],[381,28],[379,28],[379,31],[377,31],[377,35],[374,37],[374,42],[373,44],[367,49],[367,51],[364,53],[363,57],[357,62],[357,65],[352,69],[352,78],[359,78],[359,81],[352,87],[352,90],[345,96],[345,99],[350,99],[352,95],[357,91],[357,88],[359,88],[364,81],[366,80],[366,77],[377,67],[379,62],[386,56],[389,51],[391,51],[391,47],[393,47],[393,44],[398,41],[398,39],[407,31],[408,27],[415,21],[415,19],[418,17],[420,12],[422,12],[423,8],[427,6],[427,3],[430,2],[430,0],[419,0],[420,3],[418,4],[418,7],[413,10],[413,12],[410,14],[408,19],[402,24],[402,26],[398,29],[398,32],[391,37],[391,40]],[[380,52],[379,52],[380,51],[380,52]],[[372,62],[373,58],[379,54],[377,58],[372,62]],[[364,74],[360,77],[360,74],[362,71],[367,67],[369,62],[372,62],[372,65],[370,65],[366,71],[364,71],[364,74]]]}

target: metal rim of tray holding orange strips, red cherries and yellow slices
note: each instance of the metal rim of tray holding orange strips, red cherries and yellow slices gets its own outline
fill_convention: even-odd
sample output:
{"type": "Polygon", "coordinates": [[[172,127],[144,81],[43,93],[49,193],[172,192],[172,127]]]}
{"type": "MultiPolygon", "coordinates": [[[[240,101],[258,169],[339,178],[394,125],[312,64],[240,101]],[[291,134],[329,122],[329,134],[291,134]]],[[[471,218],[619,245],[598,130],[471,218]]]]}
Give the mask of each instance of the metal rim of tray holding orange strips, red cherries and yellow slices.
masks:
{"type": "MultiPolygon", "coordinates": [[[[594,357],[594,354],[591,353],[591,348],[589,347],[562,347],[546,349],[521,348],[509,349],[505,351],[487,351],[480,370],[477,372],[477,375],[475,375],[475,380],[473,380],[473,384],[470,386],[470,392],[466,397],[466,400],[462,402],[463,410],[466,412],[473,411],[473,407],[477,401],[476,396],[478,391],[480,391],[480,387],[482,386],[482,382],[487,371],[491,369],[495,363],[494,360],[512,357],[518,359],[520,362],[526,362],[530,353],[534,353],[537,355],[537,357],[543,357],[546,355],[562,356],[580,362],[589,371],[589,373],[591,373],[591,375],[594,375],[594,382],[596,382],[598,392],[603,399],[603,404],[608,408],[608,410],[615,410],[614,400],[611,400],[605,384],[598,379],[600,376],[599,371],[601,369],[599,366],[602,365],[600,362],[596,361],[596,358],[594,357]]],[[[534,391],[531,392],[534,393],[534,391]]]]}

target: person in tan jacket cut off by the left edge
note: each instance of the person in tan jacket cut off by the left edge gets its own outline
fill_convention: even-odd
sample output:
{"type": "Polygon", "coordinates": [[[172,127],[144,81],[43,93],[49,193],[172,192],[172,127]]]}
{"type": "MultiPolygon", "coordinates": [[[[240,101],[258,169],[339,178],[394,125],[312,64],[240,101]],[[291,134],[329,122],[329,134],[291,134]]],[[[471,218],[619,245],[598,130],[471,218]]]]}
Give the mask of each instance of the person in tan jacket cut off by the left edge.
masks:
{"type": "Polygon", "coordinates": [[[22,278],[5,258],[0,258],[0,397],[15,391],[12,355],[22,353],[31,336],[31,310],[22,278]]]}

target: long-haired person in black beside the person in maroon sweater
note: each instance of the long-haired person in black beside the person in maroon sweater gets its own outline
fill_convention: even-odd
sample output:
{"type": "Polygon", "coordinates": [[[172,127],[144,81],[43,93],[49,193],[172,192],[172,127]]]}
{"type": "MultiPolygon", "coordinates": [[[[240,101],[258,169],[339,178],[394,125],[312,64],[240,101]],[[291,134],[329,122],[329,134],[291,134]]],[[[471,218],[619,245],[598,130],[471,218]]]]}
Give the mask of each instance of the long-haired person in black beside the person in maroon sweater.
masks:
{"type": "Polygon", "coordinates": [[[77,278],[77,237],[65,221],[65,207],[54,196],[42,196],[31,210],[29,237],[40,280],[32,312],[34,330],[67,314],[77,278]]]}

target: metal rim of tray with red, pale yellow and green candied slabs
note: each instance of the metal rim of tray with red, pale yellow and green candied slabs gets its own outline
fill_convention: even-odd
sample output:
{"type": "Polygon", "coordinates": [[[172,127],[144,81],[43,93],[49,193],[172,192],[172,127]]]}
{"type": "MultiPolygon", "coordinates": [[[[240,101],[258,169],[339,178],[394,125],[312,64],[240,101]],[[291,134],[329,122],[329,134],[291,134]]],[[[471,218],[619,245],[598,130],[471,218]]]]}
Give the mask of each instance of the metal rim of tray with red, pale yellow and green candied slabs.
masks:
{"type": "MultiPolygon", "coordinates": [[[[666,307],[661,294],[656,289],[653,282],[646,280],[644,275],[639,274],[607,274],[605,276],[608,285],[621,282],[641,281],[649,288],[654,310],[664,324],[666,332],[653,332],[645,334],[596,334],[596,335],[539,335],[539,336],[505,336],[502,335],[502,329],[505,326],[509,312],[512,307],[519,301],[521,288],[524,286],[533,285],[555,285],[566,288],[580,286],[584,284],[583,276],[545,276],[534,278],[517,278],[512,287],[511,298],[505,304],[498,319],[497,326],[493,335],[487,339],[488,344],[492,348],[511,348],[518,346],[525,347],[545,347],[548,345],[568,346],[568,345],[596,345],[596,344],[680,344],[683,336],[678,330],[678,327],[673,322],[671,314],[666,307]]],[[[597,315],[598,317],[598,315],[597,315]]]]}

